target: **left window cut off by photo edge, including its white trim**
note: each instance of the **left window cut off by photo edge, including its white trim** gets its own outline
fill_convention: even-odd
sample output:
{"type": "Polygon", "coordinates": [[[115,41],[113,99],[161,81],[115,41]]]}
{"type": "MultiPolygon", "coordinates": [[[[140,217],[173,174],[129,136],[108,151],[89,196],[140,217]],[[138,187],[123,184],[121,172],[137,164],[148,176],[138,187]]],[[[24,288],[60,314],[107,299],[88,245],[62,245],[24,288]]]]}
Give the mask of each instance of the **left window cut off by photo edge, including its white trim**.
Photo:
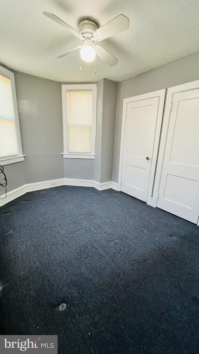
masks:
{"type": "Polygon", "coordinates": [[[0,66],[0,164],[23,161],[14,74],[0,66]]]}

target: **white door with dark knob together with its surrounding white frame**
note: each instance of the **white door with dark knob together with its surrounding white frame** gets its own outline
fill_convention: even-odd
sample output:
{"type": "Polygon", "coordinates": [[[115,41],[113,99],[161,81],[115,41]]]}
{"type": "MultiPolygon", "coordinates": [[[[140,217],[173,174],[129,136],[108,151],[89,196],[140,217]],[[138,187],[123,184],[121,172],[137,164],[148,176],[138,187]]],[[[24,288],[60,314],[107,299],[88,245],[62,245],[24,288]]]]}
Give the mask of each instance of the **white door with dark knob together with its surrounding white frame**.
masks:
{"type": "Polygon", "coordinates": [[[120,190],[156,206],[153,183],[165,90],[125,98],[121,129],[120,190]]]}

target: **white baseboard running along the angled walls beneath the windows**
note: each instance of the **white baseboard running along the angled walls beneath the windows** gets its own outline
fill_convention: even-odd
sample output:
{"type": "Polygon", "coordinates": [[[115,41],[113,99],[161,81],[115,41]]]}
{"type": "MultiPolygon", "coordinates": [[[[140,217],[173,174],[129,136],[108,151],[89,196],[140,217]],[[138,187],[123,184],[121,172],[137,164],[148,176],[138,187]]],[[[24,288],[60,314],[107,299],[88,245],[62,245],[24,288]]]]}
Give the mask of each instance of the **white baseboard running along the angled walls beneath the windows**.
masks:
{"type": "Polygon", "coordinates": [[[98,190],[104,190],[110,188],[118,190],[117,189],[118,185],[115,182],[99,183],[96,181],[90,181],[89,179],[59,178],[59,179],[52,179],[51,181],[24,184],[19,188],[7,192],[6,198],[4,198],[5,194],[0,195],[0,198],[4,198],[4,199],[0,199],[0,206],[7,204],[11,200],[18,198],[27,192],[33,192],[34,190],[58,187],[59,185],[76,185],[79,187],[94,187],[98,190]]]}

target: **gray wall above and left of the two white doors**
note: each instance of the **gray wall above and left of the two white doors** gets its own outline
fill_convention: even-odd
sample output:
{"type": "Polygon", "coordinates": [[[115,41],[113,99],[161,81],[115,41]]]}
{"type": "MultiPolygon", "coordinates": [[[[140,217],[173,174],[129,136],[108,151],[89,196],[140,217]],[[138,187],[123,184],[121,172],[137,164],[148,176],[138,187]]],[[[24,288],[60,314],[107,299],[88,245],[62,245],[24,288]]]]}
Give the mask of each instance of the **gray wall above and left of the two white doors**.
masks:
{"type": "Polygon", "coordinates": [[[112,181],[118,182],[123,99],[199,79],[199,52],[118,83],[112,181]]]}

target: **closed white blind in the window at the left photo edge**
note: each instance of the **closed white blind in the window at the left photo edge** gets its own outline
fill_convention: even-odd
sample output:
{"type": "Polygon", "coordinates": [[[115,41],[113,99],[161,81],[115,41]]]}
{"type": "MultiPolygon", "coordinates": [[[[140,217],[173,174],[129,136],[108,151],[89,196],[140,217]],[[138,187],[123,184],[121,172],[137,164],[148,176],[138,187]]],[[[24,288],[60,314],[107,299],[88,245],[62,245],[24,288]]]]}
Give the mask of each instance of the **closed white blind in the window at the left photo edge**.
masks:
{"type": "Polygon", "coordinates": [[[0,75],[0,158],[18,155],[10,79],[0,75]]]}

